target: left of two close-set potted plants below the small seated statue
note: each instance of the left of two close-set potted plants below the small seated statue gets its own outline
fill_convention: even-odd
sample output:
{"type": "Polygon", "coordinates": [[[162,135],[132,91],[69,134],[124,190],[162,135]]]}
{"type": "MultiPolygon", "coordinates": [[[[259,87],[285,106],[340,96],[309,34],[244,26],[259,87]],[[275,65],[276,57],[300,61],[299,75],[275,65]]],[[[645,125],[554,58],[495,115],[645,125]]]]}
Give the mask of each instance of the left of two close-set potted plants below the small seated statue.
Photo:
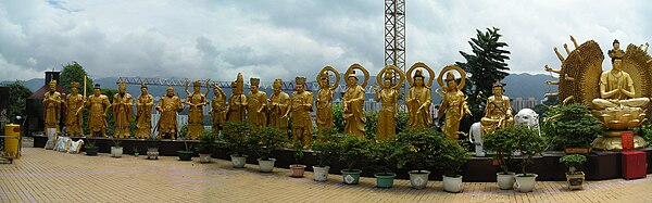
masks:
{"type": "Polygon", "coordinates": [[[506,127],[498,129],[485,136],[485,148],[496,154],[493,158],[498,162],[501,172],[496,174],[498,188],[510,190],[514,187],[514,172],[510,172],[507,165],[512,162],[512,153],[516,149],[516,135],[521,128],[506,127]]]}

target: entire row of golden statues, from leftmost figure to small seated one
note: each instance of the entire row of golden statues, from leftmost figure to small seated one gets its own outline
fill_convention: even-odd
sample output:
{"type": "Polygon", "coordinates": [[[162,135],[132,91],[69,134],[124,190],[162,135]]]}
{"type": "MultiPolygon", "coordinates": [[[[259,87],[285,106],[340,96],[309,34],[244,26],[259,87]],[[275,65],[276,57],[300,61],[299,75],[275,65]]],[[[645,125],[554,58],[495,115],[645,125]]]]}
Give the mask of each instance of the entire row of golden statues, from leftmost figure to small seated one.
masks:
{"type": "MultiPolygon", "coordinates": [[[[377,140],[388,140],[396,134],[396,123],[399,112],[399,89],[403,81],[408,80],[410,89],[406,94],[405,105],[409,112],[409,127],[423,129],[432,124],[430,115],[431,85],[435,73],[424,63],[416,63],[408,73],[400,68],[388,65],[383,68],[376,79],[373,90],[376,93],[375,100],[381,103],[378,113],[378,125],[376,131],[377,140]],[[428,80],[424,71],[429,74],[428,80]],[[414,74],[413,74],[414,73],[414,74]],[[378,88],[379,87],[379,88],[378,88]]],[[[347,88],[343,92],[342,106],[343,119],[346,123],[344,132],[348,135],[364,137],[366,117],[363,110],[364,88],[369,78],[368,72],[360,64],[351,65],[344,73],[347,88]],[[355,71],[362,72],[364,78],[360,83],[355,71]]],[[[462,91],[465,85],[465,72],[455,66],[446,66],[437,78],[441,87],[438,93],[443,97],[438,115],[444,117],[442,131],[447,138],[456,139],[460,128],[460,122],[463,116],[471,115],[466,105],[467,97],[462,91]],[[456,79],[453,72],[459,72],[461,78],[456,79]],[[446,74],[446,78],[443,78],[446,74]],[[446,81],[444,81],[446,80],[446,81]],[[460,83],[457,83],[460,80],[460,83]]],[[[316,116],[315,123],[317,129],[333,128],[333,99],[335,89],[340,80],[340,73],[331,66],[324,67],[316,76],[319,90],[316,92],[316,116]],[[336,81],[331,83],[331,76],[336,81]]],[[[227,99],[224,91],[214,83],[205,81],[206,92],[202,93],[202,83],[193,81],[193,91],[188,90],[189,81],[185,83],[185,91],[188,97],[183,100],[175,96],[174,89],[168,87],[166,94],[162,97],[155,110],[160,112],[161,117],[154,128],[158,129],[159,138],[175,139],[178,134],[176,116],[181,112],[185,105],[189,106],[188,112],[188,137],[187,139],[197,139],[203,131],[203,107],[211,105],[211,125],[213,129],[220,130],[226,122],[248,122],[254,127],[273,126],[281,130],[291,128],[292,142],[301,141],[308,145],[312,139],[311,112],[313,111],[313,94],[305,91],[305,77],[296,77],[296,90],[291,96],[281,91],[281,79],[274,80],[274,92],[267,98],[266,93],[259,91],[260,78],[250,78],[250,91],[243,93],[243,78],[238,74],[235,81],[231,83],[233,94],[227,99]],[[215,97],[208,101],[206,96],[210,88],[213,88],[215,97]],[[291,125],[288,120],[291,119],[291,125]]],[[[113,96],[113,103],[109,98],[101,94],[99,85],[95,86],[93,94],[85,98],[78,93],[79,84],[72,84],[72,92],[64,99],[55,91],[57,81],[50,83],[50,91],[45,94],[45,120],[46,128],[59,129],[59,109],[64,107],[65,113],[65,134],[72,136],[82,136],[82,111],[84,107],[89,110],[88,128],[90,137],[106,137],[106,112],[112,109],[114,115],[114,137],[128,138],[130,136],[129,119],[133,110],[133,97],[126,92],[126,84],[118,84],[118,92],[113,96]]],[[[489,98],[486,116],[482,118],[484,129],[496,129],[499,126],[505,126],[513,120],[509,98],[502,96],[502,85],[497,83],[494,96],[489,98]],[[496,98],[494,98],[496,97],[496,98]]],[[[141,94],[136,98],[136,132],[137,139],[151,138],[151,111],[154,104],[153,97],[148,93],[147,85],[141,86],[141,94]]]]}

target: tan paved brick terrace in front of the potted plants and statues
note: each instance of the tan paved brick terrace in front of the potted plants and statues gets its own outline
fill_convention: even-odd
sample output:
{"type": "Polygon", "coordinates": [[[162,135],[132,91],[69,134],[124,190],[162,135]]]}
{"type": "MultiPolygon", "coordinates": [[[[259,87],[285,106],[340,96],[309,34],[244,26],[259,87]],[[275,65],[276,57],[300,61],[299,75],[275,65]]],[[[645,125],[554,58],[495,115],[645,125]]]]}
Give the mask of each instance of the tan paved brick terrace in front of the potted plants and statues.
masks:
{"type": "Polygon", "coordinates": [[[440,181],[424,190],[397,180],[392,189],[375,188],[374,178],[358,186],[330,175],[316,182],[312,173],[291,178],[258,165],[231,168],[229,161],[211,164],[163,156],[110,154],[86,156],[23,148],[14,164],[0,165],[0,202],[652,202],[652,179],[589,181],[585,190],[568,191],[563,181],[540,181],[534,192],[500,190],[494,182],[465,182],[462,193],[447,193],[440,181]]]}

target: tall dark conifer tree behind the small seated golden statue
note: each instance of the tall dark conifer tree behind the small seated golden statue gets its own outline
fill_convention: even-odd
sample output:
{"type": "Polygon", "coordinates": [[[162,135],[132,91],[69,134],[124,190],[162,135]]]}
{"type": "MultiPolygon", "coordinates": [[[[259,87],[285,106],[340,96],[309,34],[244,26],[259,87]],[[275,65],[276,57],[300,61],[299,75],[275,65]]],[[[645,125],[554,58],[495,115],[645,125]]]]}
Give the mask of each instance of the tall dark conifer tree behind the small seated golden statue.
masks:
{"type": "Polygon", "coordinates": [[[455,62],[469,75],[464,92],[469,98],[468,107],[473,113],[473,118],[465,122],[467,127],[484,116],[485,98],[491,94],[493,83],[500,81],[509,75],[506,71],[510,68],[505,61],[510,59],[510,51],[504,50],[509,46],[499,41],[502,35],[498,30],[500,29],[496,27],[487,28],[486,33],[476,29],[476,38],[471,38],[468,41],[473,53],[460,51],[466,63],[455,62]],[[479,96],[480,92],[482,92],[481,96],[479,96]]]}

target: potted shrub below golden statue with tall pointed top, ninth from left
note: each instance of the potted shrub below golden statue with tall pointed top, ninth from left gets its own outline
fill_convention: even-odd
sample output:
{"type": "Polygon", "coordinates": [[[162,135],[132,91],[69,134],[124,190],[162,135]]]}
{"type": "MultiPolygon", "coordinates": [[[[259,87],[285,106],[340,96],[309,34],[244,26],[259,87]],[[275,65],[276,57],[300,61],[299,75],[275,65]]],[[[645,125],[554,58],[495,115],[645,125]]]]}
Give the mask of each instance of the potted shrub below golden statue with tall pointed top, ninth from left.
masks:
{"type": "Polygon", "coordinates": [[[242,168],[247,163],[247,155],[254,141],[251,139],[250,126],[248,123],[227,122],[222,130],[224,147],[230,154],[231,164],[235,168],[242,168]]]}

